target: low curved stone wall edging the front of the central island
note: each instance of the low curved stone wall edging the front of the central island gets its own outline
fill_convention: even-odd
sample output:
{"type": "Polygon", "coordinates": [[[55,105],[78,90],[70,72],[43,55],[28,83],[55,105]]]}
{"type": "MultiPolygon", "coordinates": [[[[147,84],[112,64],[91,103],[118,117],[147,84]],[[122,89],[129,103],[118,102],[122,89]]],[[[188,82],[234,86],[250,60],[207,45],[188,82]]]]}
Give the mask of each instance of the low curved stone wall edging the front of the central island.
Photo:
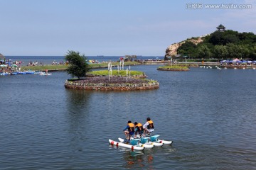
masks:
{"type": "Polygon", "coordinates": [[[65,88],[79,90],[97,90],[97,91],[134,91],[158,89],[159,82],[142,84],[84,84],[73,81],[65,81],[65,88]]]}

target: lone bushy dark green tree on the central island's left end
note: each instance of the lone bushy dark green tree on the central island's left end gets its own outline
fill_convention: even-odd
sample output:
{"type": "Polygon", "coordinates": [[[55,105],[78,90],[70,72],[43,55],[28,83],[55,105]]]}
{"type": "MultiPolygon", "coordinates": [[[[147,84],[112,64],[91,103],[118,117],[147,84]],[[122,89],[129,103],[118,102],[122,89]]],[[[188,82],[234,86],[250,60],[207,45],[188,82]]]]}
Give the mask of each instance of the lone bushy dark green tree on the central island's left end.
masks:
{"type": "Polygon", "coordinates": [[[68,51],[65,60],[70,64],[67,72],[73,77],[80,79],[80,77],[86,77],[86,73],[90,72],[90,66],[86,62],[87,58],[85,55],[80,55],[80,52],[68,51]]]}

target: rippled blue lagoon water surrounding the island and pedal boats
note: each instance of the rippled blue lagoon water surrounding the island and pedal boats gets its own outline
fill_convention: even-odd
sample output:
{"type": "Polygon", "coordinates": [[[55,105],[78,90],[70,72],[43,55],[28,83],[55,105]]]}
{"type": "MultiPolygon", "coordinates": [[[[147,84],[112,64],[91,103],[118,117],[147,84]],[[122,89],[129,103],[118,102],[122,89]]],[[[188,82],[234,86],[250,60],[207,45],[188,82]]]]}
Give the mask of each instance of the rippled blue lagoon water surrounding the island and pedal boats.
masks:
{"type": "Polygon", "coordinates": [[[74,91],[66,72],[0,77],[0,169],[255,169],[256,71],[157,71],[151,91],[74,91]],[[173,140],[144,152],[112,147],[127,120],[173,140]]]}

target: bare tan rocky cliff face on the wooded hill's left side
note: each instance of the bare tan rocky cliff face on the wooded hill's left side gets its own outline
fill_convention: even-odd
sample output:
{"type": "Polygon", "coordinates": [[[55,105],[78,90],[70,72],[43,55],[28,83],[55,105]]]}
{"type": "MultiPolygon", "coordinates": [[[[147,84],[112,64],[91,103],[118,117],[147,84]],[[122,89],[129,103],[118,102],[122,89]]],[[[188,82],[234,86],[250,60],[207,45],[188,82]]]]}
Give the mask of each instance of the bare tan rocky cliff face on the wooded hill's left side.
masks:
{"type": "Polygon", "coordinates": [[[201,37],[198,37],[198,38],[191,38],[191,39],[187,39],[187,40],[183,40],[181,42],[178,42],[178,43],[174,43],[172,45],[170,45],[169,47],[167,47],[166,49],[166,55],[165,57],[170,57],[170,56],[174,56],[174,55],[177,55],[177,50],[178,50],[178,47],[180,47],[183,43],[185,43],[186,41],[191,41],[193,42],[194,44],[198,44],[200,42],[203,42],[203,38],[206,37],[206,35],[202,35],[201,37]]]}

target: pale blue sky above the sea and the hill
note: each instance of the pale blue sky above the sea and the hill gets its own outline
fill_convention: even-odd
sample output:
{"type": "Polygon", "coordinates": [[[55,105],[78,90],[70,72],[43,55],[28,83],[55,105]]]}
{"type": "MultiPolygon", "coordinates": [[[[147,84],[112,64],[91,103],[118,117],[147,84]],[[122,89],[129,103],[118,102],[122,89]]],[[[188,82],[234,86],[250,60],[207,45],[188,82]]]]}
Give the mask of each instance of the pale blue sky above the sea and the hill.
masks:
{"type": "Polygon", "coordinates": [[[164,56],[174,42],[230,30],[256,33],[256,1],[0,0],[3,55],[164,56]],[[191,9],[191,4],[203,8],[191,9]],[[206,8],[251,4],[252,8],[206,8]],[[188,8],[186,7],[188,6],[188,8]]]}

